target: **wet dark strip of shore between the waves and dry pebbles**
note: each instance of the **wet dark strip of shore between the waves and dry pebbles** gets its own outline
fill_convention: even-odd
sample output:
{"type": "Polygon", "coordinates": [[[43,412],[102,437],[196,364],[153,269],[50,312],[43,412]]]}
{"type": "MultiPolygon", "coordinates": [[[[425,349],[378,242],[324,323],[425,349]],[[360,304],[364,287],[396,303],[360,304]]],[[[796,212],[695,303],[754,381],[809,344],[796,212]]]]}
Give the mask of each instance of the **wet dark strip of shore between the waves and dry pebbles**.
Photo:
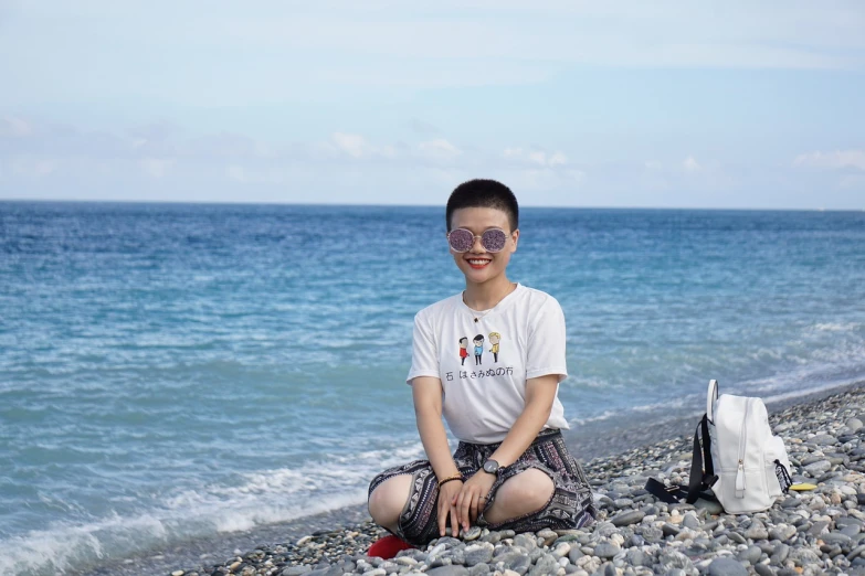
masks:
{"type": "MultiPolygon", "coordinates": [[[[772,402],[767,405],[770,419],[777,418],[784,410],[799,409],[808,412],[809,406],[819,404],[826,398],[844,394],[859,393],[865,398],[865,381],[853,384],[816,391],[811,394],[772,402]]],[[[865,412],[865,409],[863,409],[865,412]]],[[[681,414],[648,425],[636,425],[627,428],[615,428],[611,422],[601,426],[580,426],[565,433],[568,447],[583,465],[587,474],[594,480],[601,470],[614,469],[618,459],[627,460],[629,452],[642,452],[641,448],[657,445],[685,442],[689,454],[694,426],[698,416],[681,414]],[[611,468],[612,467],[612,468],[611,468]]],[[[689,456],[688,456],[689,460],[689,456]]],[[[685,471],[687,473],[687,470],[685,471]]],[[[595,488],[595,482],[592,482],[595,488]]],[[[600,486],[600,484],[599,484],[600,486]]],[[[363,526],[368,541],[375,540],[376,532],[370,532],[369,515],[366,504],[335,509],[328,512],[304,516],[270,525],[255,526],[251,531],[219,534],[209,537],[178,542],[163,550],[150,551],[129,558],[122,558],[86,570],[70,572],[80,576],[105,576],[136,574],[170,574],[171,572],[191,566],[219,566],[221,561],[238,557],[275,543],[291,543],[313,534],[335,534],[355,531],[363,526]]],[[[378,532],[381,534],[381,532],[378,532]]],[[[366,542],[366,541],[365,541],[366,542]]],[[[366,546],[369,545],[366,542],[366,546]]],[[[358,543],[362,544],[362,543],[358,543]]],[[[358,553],[366,552],[366,548],[358,553]]],[[[211,574],[211,570],[205,572],[211,574]]],[[[199,574],[205,574],[200,572],[199,574]]],[[[190,572],[187,572],[190,574],[190,572]]]]}

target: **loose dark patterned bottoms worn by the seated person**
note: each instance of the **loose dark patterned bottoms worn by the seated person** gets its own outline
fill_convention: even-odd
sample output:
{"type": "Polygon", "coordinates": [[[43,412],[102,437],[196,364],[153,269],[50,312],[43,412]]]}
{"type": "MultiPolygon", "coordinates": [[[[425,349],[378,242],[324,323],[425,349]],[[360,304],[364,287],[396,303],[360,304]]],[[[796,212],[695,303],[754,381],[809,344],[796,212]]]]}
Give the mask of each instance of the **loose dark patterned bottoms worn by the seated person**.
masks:
{"type": "MultiPolygon", "coordinates": [[[[477,472],[498,446],[460,442],[454,452],[454,462],[463,478],[470,478],[477,472]]],[[[484,511],[493,505],[502,484],[529,468],[541,470],[552,479],[555,490],[547,504],[538,511],[499,524],[486,522],[482,512],[477,516],[479,526],[489,530],[537,532],[545,527],[576,529],[593,522],[597,511],[589,481],[580,465],[568,452],[561,433],[555,429],[542,430],[516,462],[499,470],[498,478],[487,494],[484,511]]],[[[369,493],[386,480],[400,474],[411,474],[412,483],[409,500],[400,514],[397,536],[414,545],[425,544],[439,537],[439,483],[429,460],[415,460],[384,470],[372,479],[369,493]]]]}

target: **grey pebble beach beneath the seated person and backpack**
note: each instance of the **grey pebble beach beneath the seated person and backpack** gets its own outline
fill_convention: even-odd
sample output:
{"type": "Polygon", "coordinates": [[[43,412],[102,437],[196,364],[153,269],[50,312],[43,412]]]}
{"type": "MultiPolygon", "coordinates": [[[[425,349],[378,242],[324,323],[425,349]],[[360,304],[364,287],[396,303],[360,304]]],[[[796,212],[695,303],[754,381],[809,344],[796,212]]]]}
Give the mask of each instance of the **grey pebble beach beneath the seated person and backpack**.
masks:
{"type": "Polygon", "coordinates": [[[272,542],[218,564],[178,566],[171,576],[337,576],[495,574],[738,576],[865,574],[865,387],[782,408],[770,424],[784,439],[793,481],[811,491],[779,498],[766,512],[732,515],[714,502],[666,504],[647,478],[687,483],[692,437],[655,441],[584,461],[598,521],[573,531],[514,534],[473,526],[391,559],[369,557],[386,533],[365,520],[272,542]]]}

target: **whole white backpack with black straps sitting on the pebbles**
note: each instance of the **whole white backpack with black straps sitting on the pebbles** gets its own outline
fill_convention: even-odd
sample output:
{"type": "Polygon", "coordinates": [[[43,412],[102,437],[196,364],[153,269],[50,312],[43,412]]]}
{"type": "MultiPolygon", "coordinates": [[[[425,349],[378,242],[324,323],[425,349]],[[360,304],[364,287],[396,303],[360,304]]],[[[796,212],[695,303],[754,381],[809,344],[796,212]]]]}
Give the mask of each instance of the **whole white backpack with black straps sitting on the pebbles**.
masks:
{"type": "Polygon", "coordinates": [[[646,490],[665,502],[714,499],[732,513],[761,512],[792,484],[783,440],[772,435],[760,398],[724,394],[709,382],[706,414],[694,433],[690,481],[665,487],[655,479],[646,490]],[[702,441],[700,441],[702,440],[702,441]]]}

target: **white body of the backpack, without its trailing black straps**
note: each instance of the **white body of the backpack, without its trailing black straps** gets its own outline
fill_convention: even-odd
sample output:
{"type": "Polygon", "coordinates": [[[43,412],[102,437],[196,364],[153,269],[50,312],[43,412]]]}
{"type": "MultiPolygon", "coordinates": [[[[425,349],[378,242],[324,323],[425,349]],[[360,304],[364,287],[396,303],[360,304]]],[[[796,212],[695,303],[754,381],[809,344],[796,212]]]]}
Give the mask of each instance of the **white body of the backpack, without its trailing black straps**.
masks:
{"type": "MultiPolygon", "coordinates": [[[[704,473],[717,477],[708,486],[724,510],[737,514],[769,509],[792,481],[784,441],[772,435],[763,401],[731,394],[718,397],[718,381],[713,380],[705,419],[711,461],[704,465],[704,473]]],[[[705,454],[705,437],[703,444],[705,454]]]]}

